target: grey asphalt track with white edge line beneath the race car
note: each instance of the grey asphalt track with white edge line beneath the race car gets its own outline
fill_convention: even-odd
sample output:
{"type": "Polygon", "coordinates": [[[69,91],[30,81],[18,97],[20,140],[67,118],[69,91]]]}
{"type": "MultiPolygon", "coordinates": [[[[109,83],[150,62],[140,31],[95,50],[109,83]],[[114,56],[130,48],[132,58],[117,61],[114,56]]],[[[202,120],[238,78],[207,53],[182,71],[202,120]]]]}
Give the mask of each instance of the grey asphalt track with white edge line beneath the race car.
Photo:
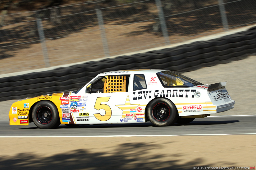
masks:
{"type": "Polygon", "coordinates": [[[175,136],[175,135],[231,135],[256,134],[256,115],[209,116],[196,118],[186,125],[174,124],[156,127],[150,122],[133,124],[101,124],[70,128],[60,125],[56,129],[39,129],[34,123],[28,126],[10,126],[1,121],[0,137],[47,137],[47,136],[175,136]]]}

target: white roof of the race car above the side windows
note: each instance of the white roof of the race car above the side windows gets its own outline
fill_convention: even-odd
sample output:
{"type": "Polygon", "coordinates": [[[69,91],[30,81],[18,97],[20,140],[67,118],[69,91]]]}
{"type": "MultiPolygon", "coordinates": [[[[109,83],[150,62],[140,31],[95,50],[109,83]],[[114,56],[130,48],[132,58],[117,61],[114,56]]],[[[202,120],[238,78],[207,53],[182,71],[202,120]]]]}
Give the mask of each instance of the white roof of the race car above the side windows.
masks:
{"type": "Polygon", "coordinates": [[[153,70],[153,69],[139,69],[139,70],[118,70],[118,71],[109,71],[109,72],[104,72],[98,74],[98,76],[106,75],[106,74],[111,74],[111,75],[127,75],[127,74],[145,74],[145,73],[158,73],[160,71],[164,70],[153,70]]]}

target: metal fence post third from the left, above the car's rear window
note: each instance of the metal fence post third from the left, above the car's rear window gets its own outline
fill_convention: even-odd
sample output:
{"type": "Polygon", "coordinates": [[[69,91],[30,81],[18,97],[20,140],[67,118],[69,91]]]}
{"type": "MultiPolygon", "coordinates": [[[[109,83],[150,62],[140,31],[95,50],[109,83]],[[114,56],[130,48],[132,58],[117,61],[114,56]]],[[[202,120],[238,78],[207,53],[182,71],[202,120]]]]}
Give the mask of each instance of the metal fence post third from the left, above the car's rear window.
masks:
{"type": "Polygon", "coordinates": [[[165,44],[169,45],[170,40],[169,40],[167,28],[166,28],[166,23],[165,23],[164,12],[163,12],[163,9],[162,9],[161,0],[155,0],[155,1],[156,1],[158,16],[159,16],[159,20],[160,20],[161,29],[162,29],[162,33],[163,33],[163,36],[164,36],[165,44]]]}

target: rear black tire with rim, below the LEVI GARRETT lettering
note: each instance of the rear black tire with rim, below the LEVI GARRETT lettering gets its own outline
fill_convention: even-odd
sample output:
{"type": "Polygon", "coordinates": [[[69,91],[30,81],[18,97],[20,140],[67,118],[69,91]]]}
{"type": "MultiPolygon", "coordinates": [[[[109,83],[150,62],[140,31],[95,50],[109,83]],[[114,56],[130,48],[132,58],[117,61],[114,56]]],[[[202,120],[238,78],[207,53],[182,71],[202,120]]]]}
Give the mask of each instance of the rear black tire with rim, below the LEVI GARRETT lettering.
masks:
{"type": "Polygon", "coordinates": [[[157,98],[147,107],[147,116],[155,126],[173,125],[178,119],[176,106],[166,98],[157,98]]]}

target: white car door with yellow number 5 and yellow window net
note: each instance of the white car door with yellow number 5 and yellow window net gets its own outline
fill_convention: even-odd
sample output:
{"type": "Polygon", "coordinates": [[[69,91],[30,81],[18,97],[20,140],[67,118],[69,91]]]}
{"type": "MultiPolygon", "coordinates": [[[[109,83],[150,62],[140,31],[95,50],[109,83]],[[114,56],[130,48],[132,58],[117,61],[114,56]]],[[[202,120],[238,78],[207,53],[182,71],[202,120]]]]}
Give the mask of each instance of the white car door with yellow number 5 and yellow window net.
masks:
{"type": "Polygon", "coordinates": [[[76,124],[122,123],[122,113],[127,107],[130,75],[104,75],[92,80],[74,103],[71,114],[76,124]],[[77,106],[75,106],[77,105],[77,106]],[[124,105],[123,107],[121,105],[124,105]]]}

